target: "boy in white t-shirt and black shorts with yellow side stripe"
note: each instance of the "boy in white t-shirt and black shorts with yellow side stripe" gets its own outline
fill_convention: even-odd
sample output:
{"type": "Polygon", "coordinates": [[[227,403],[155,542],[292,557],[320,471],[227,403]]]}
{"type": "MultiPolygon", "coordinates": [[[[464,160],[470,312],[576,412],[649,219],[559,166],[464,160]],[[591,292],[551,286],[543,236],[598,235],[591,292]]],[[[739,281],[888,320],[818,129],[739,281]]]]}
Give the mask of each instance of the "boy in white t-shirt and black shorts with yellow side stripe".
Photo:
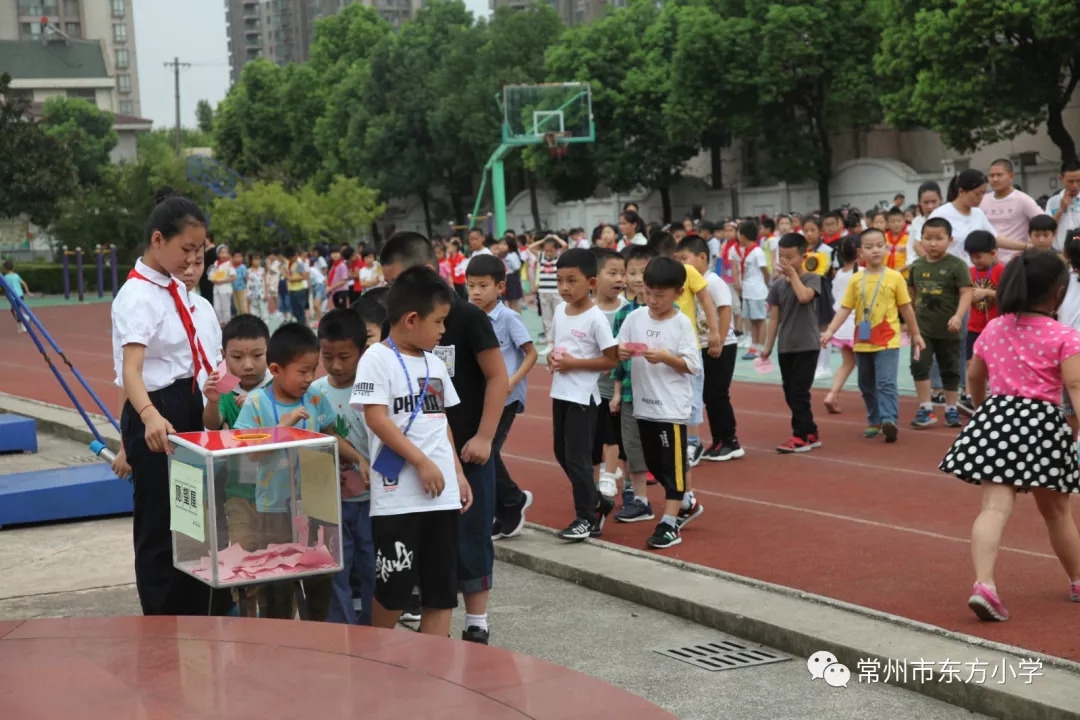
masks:
{"type": "Polygon", "coordinates": [[[632,312],[619,328],[619,358],[633,358],[634,417],[645,464],[664,488],[664,516],[646,541],[656,549],[683,542],[678,515],[689,471],[690,376],[701,372],[693,324],[675,307],[685,283],[681,262],[665,257],[650,260],[645,268],[648,307],[632,312]]]}

